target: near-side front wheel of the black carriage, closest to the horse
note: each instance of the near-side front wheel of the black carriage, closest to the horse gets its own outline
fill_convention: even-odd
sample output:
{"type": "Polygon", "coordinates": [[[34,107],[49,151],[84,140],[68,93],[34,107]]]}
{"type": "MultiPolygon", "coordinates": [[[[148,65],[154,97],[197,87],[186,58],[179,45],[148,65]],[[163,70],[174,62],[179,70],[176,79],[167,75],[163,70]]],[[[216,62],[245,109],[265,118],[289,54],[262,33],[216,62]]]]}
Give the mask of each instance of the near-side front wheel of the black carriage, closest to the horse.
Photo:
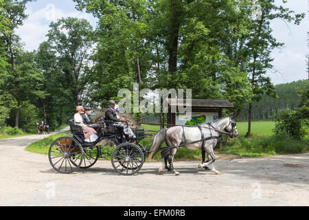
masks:
{"type": "Polygon", "coordinates": [[[144,153],[135,144],[119,144],[113,151],[111,162],[118,173],[122,175],[133,175],[143,166],[144,153]]]}

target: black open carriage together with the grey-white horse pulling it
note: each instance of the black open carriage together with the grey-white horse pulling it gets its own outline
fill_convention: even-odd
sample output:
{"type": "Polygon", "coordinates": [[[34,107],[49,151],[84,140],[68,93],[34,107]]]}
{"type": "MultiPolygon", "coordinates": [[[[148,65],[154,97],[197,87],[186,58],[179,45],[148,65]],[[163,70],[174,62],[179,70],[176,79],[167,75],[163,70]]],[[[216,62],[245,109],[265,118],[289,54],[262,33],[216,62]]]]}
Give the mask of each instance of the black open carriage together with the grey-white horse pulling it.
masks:
{"type": "Polygon", "coordinates": [[[207,168],[209,165],[214,173],[219,174],[212,164],[215,161],[213,148],[222,133],[230,137],[238,135],[233,117],[225,117],[216,122],[198,126],[172,126],[168,129],[161,129],[155,135],[151,148],[148,149],[139,142],[144,138],[144,129],[135,129],[136,137],[127,142],[122,136],[119,137],[119,131],[114,122],[102,118],[98,139],[94,142],[85,142],[82,126],[74,124],[73,120],[69,120],[69,126],[71,129],[71,133],[67,133],[69,136],[59,137],[49,147],[49,162],[60,173],[72,173],[78,168],[93,166],[101,157],[101,149],[97,144],[102,140],[110,140],[116,145],[111,155],[111,163],[113,168],[122,175],[136,174],[143,166],[146,154],[153,155],[157,151],[162,151],[162,166],[159,172],[163,168],[168,168],[178,175],[179,172],[174,170],[172,161],[179,146],[202,149],[203,161],[199,167],[207,168]],[[166,142],[168,146],[160,147],[163,142],[166,142]],[[205,153],[207,153],[206,162],[205,153]]]}

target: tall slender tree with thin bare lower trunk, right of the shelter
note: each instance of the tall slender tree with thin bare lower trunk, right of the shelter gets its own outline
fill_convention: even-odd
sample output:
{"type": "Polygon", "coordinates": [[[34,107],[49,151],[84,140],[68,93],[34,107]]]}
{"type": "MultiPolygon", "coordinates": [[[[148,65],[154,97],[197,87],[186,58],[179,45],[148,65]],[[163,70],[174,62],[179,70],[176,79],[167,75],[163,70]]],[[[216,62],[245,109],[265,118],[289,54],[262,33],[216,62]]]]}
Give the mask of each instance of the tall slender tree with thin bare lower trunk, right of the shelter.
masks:
{"type": "MultiPolygon", "coordinates": [[[[266,71],[273,67],[271,52],[284,43],[279,43],[273,36],[271,29],[271,21],[273,19],[282,19],[285,22],[294,22],[298,25],[303,14],[295,14],[293,11],[284,6],[277,6],[274,0],[258,0],[254,1],[260,7],[260,17],[251,20],[250,30],[251,34],[247,42],[247,49],[249,50],[250,62],[246,70],[249,73],[251,85],[253,87],[253,100],[260,100],[261,95],[266,93],[268,96],[275,97],[275,89],[269,77],[266,77],[266,71]]],[[[282,1],[286,3],[286,1],[282,1]]],[[[251,135],[251,115],[252,102],[249,103],[249,125],[247,136],[251,135]]]]}

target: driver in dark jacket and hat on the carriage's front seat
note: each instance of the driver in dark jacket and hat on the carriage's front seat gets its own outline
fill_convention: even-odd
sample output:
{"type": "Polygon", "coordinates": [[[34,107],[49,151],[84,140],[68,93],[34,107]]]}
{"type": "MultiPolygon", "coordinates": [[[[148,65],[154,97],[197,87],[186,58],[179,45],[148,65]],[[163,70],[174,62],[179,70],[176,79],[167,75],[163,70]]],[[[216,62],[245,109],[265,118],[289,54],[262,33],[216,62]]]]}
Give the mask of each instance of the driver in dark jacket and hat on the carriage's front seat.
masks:
{"type": "Polygon", "coordinates": [[[130,141],[134,140],[135,135],[133,131],[130,129],[130,127],[126,124],[120,123],[124,122],[126,118],[120,117],[119,119],[117,118],[117,114],[115,113],[115,104],[116,102],[114,100],[110,100],[108,102],[108,108],[105,111],[105,117],[104,120],[110,120],[114,123],[114,125],[117,127],[117,130],[123,134],[123,141],[130,141]]]}

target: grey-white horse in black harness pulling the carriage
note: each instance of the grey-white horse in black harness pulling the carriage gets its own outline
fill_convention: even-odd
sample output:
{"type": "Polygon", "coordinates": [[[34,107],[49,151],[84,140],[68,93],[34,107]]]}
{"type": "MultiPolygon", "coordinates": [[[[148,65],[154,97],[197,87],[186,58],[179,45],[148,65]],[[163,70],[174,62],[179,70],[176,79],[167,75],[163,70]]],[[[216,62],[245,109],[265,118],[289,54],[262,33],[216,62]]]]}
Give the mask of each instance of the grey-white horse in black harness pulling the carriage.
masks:
{"type": "Polygon", "coordinates": [[[216,160],[214,156],[214,146],[216,146],[221,133],[225,133],[229,135],[229,137],[236,137],[238,135],[234,118],[234,116],[219,118],[214,122],[201,124],[201,126],[179,125],[167,129],[161,129],[155,135],[155,139],[150,147],[148,159],[152,158],[155,152],[157,152],[159,146],[165,141],[170,148],[161,153],[162,165],[159,168],[159,172],[164,168],[168,168],[168,170],[172,170],[175,175],[179,175],[179,172],[174,169],[173,165],[174,155],[179,146],[184,146],[185,148],[192,150],[204,148],[207,153],[207,161],[203,161],[198,167],[203,168],[210,165],[211,170],[214,173],[220,174],[213,165],[216,160]],[[170,167],[167,165],[167,161],[169,162],[170,167]]]}

